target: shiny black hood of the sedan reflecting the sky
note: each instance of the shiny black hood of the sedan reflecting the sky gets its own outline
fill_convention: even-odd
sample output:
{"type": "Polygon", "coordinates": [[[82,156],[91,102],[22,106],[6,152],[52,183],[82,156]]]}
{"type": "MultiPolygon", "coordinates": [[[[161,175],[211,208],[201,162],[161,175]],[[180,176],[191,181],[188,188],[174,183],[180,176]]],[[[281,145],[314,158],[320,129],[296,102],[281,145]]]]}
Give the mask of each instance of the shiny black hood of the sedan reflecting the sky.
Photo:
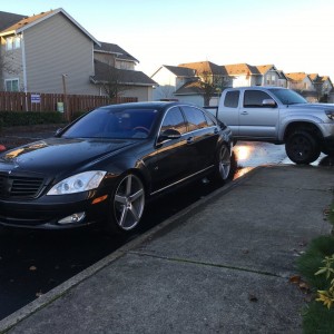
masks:
{"type": "Polygon", "coordinates": [[[104,156],[114,155],[137,140],[65,139],[35,141],[0,155],[0,170],[58,174],[85,167],[104,156]]]}

